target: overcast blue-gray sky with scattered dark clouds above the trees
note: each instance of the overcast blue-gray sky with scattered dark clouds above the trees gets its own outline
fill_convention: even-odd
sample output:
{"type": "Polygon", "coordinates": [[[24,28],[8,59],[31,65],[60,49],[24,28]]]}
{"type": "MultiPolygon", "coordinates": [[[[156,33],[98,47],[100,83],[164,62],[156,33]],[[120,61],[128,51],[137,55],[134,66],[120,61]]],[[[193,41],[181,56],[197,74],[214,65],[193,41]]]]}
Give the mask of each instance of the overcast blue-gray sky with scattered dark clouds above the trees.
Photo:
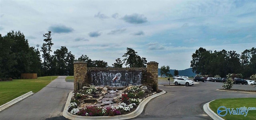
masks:
{"type": "Polygon", "coordinates": [[[192,54],[256,47],[256,0],[0,0],[0,34],[24,33],[109,66],[131,47],[158,68],[190,67],[192,54]]]}

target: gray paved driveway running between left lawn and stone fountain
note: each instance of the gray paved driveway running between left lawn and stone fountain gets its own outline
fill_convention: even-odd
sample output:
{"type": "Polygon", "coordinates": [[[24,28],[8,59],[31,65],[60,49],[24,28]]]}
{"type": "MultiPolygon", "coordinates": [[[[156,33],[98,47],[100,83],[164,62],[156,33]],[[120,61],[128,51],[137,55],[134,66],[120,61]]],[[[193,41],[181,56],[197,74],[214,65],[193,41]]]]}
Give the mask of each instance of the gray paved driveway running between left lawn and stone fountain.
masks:
{"type": "Polygon", "coordinates": [[[60,76],[42,90],[0,112],[0,120],[64,120],[62,112],[74,83],[60,76]]]}

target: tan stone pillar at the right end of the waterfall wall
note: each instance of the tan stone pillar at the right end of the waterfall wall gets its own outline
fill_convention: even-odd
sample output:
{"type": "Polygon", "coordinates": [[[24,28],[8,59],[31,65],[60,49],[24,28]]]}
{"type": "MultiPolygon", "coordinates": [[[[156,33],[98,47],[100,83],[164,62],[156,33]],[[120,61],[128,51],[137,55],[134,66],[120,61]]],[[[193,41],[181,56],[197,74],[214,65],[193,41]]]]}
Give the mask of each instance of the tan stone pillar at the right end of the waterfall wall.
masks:
{"type": "Polygon", "coordinates": [[[147,82],[152,85],[154,91],[158,91],[158,63],[150,61],[147,65],[147,82]]]}

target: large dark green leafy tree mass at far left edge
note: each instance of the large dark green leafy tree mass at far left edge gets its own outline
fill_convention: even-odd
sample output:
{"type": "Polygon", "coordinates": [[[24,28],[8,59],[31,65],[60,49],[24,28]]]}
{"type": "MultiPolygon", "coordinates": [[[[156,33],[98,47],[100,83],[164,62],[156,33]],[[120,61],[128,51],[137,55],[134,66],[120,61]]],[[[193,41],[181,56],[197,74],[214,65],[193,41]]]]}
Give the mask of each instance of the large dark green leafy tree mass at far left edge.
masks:
{"type": "Polygon", "coordinates": [[[19,78],[21,73],[38,73],[39,52],[28,45],[20,31],[0,35],[0,77],[19,78]]]}

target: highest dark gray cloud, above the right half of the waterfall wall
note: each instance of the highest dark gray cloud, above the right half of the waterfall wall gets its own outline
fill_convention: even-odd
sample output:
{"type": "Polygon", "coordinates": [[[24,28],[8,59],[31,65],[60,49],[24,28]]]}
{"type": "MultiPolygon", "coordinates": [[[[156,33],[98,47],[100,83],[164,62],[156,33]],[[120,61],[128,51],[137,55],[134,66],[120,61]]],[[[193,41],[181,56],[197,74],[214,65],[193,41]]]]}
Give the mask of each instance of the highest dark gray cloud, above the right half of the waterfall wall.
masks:
{"type": "Polygon", "coordinates": [[[143,24],[145,22],[148,22],[147,18],[144,15],[136,13],[132,15],[125,15],[122,19],[130,24],[143,24]]]}

